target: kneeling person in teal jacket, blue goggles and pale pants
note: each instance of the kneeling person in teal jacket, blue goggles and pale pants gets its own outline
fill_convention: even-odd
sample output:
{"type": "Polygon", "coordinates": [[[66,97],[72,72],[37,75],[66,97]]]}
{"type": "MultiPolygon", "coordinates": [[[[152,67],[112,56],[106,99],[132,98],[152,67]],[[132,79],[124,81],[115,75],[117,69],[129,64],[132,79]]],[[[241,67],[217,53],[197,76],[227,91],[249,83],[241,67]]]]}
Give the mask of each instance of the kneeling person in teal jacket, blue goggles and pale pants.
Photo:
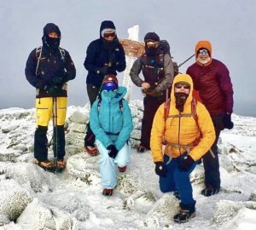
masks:
{"type": "Polygon", "coordinates": [[[102,93],[90,109],[90,128],[96,135],[100,152],[103,195],[111,196],[116,186],[117,170],[125,172],[130,161],[128,140],[133,129],[131,110],[124,96],[127,90],[118,86],[113,74],[106,75],[102,93]]]}

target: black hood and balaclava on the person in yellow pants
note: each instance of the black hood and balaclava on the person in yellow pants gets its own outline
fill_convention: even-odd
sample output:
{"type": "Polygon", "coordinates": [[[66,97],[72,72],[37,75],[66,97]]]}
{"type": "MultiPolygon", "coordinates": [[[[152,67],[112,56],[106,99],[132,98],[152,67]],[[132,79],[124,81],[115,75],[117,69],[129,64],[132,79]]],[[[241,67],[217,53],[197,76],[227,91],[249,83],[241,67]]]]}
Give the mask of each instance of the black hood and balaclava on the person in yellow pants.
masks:
{"type": "Polygon", "coordinates": [[[61,43],[61,31],[59,27],[54,23],[48,23],[44,26],[44,36],[42,37],[42,41],[45,47],[49,49],[58,49],[61,43]],[[49,37],[50,32],[55,32],[59,37],[49,37]]]}

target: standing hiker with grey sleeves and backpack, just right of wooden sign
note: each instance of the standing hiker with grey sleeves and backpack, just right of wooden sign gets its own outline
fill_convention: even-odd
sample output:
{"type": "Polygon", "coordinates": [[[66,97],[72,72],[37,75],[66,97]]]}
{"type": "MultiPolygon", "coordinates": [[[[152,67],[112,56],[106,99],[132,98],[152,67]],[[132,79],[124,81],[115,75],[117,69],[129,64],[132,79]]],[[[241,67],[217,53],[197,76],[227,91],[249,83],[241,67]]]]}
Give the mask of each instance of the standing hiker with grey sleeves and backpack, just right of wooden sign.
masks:
{"type": "Polygon", "coordinates": [[[160,37],[155,32],[148,32],[144,37],[145,54],[139,57],[131,67],[131,80],[143,89],[144,112],[141,131],[141,143],[137,152],[150,149],[150,131],[154,113],[166,101],[166,89],[172,84],[174,69],[170,54],[160,49],[160,37]],[[144,79],[139,77],[143,71],[144,79]]]}

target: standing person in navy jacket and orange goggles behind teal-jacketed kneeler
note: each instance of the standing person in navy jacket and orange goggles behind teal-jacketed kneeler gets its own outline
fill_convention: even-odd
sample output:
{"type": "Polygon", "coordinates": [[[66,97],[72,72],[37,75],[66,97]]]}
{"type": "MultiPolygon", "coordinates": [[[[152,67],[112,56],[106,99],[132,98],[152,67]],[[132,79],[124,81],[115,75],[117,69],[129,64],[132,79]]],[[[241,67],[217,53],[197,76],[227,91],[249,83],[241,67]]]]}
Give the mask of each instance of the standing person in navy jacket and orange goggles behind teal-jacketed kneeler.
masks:
{"type": "MultiPolygon", "coordinates": [[[[119,43],[113,21],[102,21],[100,38],[89,44],[84,67],[88,71],[86,78],[87,94],[90,106],[92,106],[101,91],[104,76],[107,74],[116,76],[117,72],[123,72],[126,67],[125,51],[119,43]]],[[[98,154],[94,142],[95,135],[90,129],[90,124],[88,124],[84,137],[84,150],[91,156],[98,154]]]]}

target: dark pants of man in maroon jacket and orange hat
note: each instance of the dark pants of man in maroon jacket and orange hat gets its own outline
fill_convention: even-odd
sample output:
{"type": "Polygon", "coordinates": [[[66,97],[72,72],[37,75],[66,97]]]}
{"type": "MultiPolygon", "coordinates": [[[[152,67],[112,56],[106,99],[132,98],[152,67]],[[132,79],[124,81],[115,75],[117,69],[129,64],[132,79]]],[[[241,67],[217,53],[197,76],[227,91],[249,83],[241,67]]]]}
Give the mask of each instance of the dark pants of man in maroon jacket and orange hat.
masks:
{"type": "Polygon", "coordinates": [[[218,162],[218,137],[221,130],[224,129],[223,114],[212,115],[212,122],[215,129],[216,139],[212,144],[211,150],[203,156],[203,164],[205,169],[205,186],[219,189],[220,188],[220,174],[218,162]],[[214,155],[214,158],[212,156],[214,155]]]}

